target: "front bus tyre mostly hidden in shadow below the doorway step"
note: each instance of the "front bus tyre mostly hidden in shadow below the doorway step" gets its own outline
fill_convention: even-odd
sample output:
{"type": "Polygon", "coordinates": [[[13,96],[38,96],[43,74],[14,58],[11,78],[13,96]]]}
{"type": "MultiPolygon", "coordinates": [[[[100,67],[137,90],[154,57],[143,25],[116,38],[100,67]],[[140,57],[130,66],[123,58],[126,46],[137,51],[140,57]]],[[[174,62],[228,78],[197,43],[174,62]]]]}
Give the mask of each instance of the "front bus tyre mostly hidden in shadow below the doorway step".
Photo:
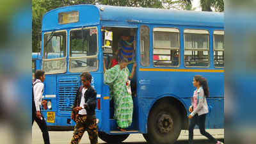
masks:
{"type": "Polygon", "coordinates": [[[121,143],[122,141],[127,139],[128,136],[129,136],[129,134],[113,134],[113,135],[109,135],[109,134],[106,134],[105,132],[99,131],[99,138],[102,141],[105,141],[106,143],[111,143],[111,144],[121,143]]]}

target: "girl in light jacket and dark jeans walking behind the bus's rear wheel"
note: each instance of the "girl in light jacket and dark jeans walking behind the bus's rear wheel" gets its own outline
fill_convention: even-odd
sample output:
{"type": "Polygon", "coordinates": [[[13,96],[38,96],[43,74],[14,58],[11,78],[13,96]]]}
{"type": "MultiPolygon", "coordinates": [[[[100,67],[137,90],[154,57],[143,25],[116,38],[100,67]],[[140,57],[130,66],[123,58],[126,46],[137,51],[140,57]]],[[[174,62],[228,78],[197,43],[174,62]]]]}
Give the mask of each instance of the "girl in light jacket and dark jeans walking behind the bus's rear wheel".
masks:
{"type": "Polygon", "coordinates": [[[193,131],[195,125],[197,124],[200,133],[207,137],[209,140],[216,144],[220,144],[221,141],[217,141],[208,132],[205,131],[205,117],[209,112],[206,97],[209,97],[209,88],[207,85],[207,80],[202,76],[195,76],[193,78],[193,86],[196,87],[194,95],[191,99],[191,106],[189,107],[189,118],[191,119],[189,123],[189,140],[188,143],[193,143],[193,131]]]}

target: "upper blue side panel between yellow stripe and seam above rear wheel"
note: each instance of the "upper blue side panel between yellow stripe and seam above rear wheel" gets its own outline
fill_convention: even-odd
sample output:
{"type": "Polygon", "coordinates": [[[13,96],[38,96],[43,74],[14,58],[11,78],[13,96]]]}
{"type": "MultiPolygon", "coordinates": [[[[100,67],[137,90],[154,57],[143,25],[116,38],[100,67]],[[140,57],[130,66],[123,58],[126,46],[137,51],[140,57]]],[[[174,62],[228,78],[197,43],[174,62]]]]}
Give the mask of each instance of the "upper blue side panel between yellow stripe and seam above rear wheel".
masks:
{"type": "Polygon", "coordinates": [[[224,97],[224,75],[217,72],[157,72],[140,71],[138,95],[157,97],[164,93],[177,93],[179,97],[192,97],[195,87],[193,77],[201,75],[207,79],[210,97],[224,97]]]}

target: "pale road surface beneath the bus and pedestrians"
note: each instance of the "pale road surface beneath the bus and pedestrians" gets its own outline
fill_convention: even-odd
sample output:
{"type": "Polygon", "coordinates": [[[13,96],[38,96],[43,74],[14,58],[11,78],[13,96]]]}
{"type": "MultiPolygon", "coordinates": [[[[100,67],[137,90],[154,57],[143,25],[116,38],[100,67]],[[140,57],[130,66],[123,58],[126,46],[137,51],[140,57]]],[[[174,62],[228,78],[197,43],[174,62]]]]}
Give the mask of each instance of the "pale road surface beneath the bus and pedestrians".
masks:
{"type": "MultiPolygon", "coordinates": [[[[210,129],[206,130],[214,138],[224,141],[224,129],[210,129]]],[[[72,138],[72,131],[54,132],[50,131],[51,144],[65,144],[70,143],[72,138]]],[[[105,143],[100,140],[99,143],[105,143]]],[[[181,131],[178,141],[175,144],[187,144],[188,143],[188,131],[181,131]]],[[[32,127],[32,144],[44,144],[42,138],[42,132],[38,125],[35,123],[32,127]]],[[[87,132],[84,132],[84,136],[79,144],[90,144],[87,132]]],[[[114,143],[113,143],[114,144],[114,143]]],[[[142,134],[131,134],[125,141],[124,144],[147,144],[147,141],[143,138],[142,134]]],[[[198,129],[194,130],[194,144],[211,144],[207,138],[202,136],[198,129]]]]}

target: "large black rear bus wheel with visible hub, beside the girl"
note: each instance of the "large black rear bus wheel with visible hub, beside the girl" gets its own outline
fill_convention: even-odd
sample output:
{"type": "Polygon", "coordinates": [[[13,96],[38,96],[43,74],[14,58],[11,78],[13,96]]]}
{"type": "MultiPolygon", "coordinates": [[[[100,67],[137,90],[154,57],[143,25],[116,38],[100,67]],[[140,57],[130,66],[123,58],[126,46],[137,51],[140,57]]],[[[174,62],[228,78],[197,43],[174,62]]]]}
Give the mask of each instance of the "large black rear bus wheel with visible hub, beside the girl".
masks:
{"type": "Polygon", "coordinates": [[[173,144],[181,131],[179,109],[168,101],[161,100],[148,115],[148,133],[143,134],[151,144],[173,144]]]}

